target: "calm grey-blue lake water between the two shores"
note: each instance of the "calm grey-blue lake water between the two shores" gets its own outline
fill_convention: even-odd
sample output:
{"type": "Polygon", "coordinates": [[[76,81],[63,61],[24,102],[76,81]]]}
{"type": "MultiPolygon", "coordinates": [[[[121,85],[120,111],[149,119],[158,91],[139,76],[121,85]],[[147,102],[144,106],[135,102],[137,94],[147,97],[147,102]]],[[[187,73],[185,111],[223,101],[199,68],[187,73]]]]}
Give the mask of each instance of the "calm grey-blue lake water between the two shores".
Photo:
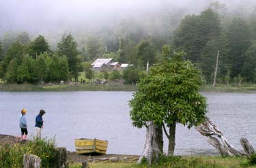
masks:
{"type": "MultiPolygon", "coordinates": [[[[246,137],[256,147],[256,94],[203,93],[208,116],[229,142],[240,147],[246,137]]],[[[75,138],[109,141],[108,154],[141,154],[145,129],[132,127],[128,101],[132,92],[8,93],[0,92],[0,133],[19,135],[20,110],[27,109],[29,137],[35,116],[46,110],[43,137],[55,137],[57,146],[74,151],[75,138]]],[[[167,151],[165,139],[165,151],[167,151]]],[[[175,154],[216,154],[207,138],[195,129],[177,126],[175,154]]]]}

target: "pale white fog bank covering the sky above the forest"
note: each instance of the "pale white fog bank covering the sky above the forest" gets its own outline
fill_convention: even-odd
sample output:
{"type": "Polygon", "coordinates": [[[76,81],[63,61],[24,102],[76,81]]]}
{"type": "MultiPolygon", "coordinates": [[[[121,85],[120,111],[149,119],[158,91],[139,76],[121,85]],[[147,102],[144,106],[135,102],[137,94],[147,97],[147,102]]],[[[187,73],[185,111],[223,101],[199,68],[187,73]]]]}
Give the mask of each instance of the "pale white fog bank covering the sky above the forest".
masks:
{"type": "MultiPolygon", "coordinates": [[[[6,31],[63,33],[94,30],[126,19],[181,12],[196,14],[212,0],[0,0],[0,35],[6,31]]],[[[229,11],[252,10],[255,0],[221,0],[229,11]]],[[[143,23],[141,23],[143,24],[143,23]]]]}

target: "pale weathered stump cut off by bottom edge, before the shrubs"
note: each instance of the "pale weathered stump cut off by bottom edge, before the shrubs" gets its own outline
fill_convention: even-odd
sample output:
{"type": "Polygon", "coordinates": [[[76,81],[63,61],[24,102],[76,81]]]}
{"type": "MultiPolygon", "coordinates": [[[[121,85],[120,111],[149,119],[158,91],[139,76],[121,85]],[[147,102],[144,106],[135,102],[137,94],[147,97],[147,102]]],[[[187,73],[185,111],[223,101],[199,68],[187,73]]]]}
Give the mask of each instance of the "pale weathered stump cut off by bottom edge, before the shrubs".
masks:
{"type": "Polygon", "coordinates": [[[23,156],[24,168],[40,168],[41,159],[33,154],[24,154],[23,156]]]}

